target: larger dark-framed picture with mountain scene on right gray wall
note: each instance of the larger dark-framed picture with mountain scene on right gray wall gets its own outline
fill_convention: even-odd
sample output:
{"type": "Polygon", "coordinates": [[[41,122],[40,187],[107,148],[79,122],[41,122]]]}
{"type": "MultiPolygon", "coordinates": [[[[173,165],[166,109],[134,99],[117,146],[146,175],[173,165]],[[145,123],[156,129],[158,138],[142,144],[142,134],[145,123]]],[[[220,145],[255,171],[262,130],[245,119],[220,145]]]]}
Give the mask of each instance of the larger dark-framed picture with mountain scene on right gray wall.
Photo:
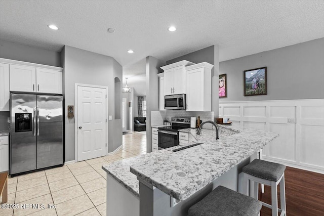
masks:
{"type": "Polygon", "coordinates": [[[244,96],[267,94],[267,67],[244,71],[244,96]]]}

